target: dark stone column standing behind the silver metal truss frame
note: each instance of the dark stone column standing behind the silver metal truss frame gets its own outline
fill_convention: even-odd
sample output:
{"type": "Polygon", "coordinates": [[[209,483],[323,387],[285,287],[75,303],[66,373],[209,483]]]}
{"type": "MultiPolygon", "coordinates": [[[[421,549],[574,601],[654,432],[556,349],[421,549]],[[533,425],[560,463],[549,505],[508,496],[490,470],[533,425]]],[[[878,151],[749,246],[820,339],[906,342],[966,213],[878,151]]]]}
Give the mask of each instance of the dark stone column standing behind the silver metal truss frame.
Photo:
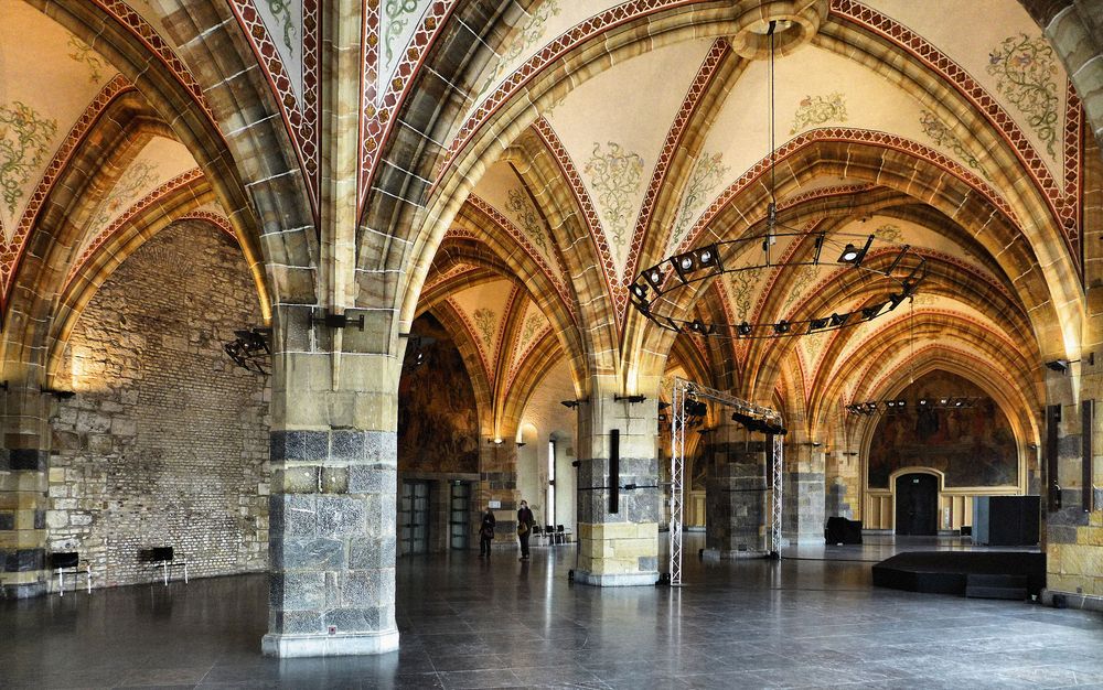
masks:
{"type": "Polygon", "coordinates": [[[705,477],[705,558],[763,556],[770,449],[761,434],[752,436],[726,417],[711,435],[705,477]]]}

